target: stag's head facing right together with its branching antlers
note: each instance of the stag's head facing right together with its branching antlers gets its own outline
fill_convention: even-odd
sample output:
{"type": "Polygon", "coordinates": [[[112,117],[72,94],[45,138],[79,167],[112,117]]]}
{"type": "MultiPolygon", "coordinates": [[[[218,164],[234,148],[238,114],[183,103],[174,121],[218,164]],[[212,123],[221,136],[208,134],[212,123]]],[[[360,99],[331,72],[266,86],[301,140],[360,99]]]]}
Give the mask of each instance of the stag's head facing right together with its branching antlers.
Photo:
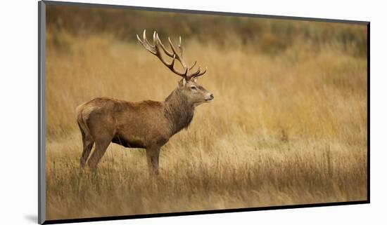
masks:
{"type": "Polygon", "coordinates": [[[198,76],[202,76],[207,71],[207,68],[204,71],[201,71],[201,67],[198,67],[196,71],[193,71],[196,66],[196,61],[189,67],[183,59],[183,48],[182,48],[182,37],[179,37],[179,50],[176,50],[175,46],[173,46],[172,41],[168,37],[168,41],[170,43],[170,50],[167,50],[163,43],[160,41],[158,34],[153,32],[153,45],[151,45],[146,39],[146,30],[144,29],[143,40],[139,38],[137,35],[137,39],[139,39],[140,43],[153,55],[156,55],[166,67],[168,67],[172,72],[182,77],[182,80],[179,81],[177,90],[182,93],[186,97],[189,102],[194,105],[202,104],[204,102],[211,102],[214,99],[214,95],[205,90],[202,86],[198,85],[197,80],[198,76]],[[161,50],[167,55],[167,57],[172,58],[172,61],[168,63],[165,61],[161,55],[161,50]],[[175,60],[179,61],[182,65],[184,71],[177,71],[174,67],[175,60]]]}

